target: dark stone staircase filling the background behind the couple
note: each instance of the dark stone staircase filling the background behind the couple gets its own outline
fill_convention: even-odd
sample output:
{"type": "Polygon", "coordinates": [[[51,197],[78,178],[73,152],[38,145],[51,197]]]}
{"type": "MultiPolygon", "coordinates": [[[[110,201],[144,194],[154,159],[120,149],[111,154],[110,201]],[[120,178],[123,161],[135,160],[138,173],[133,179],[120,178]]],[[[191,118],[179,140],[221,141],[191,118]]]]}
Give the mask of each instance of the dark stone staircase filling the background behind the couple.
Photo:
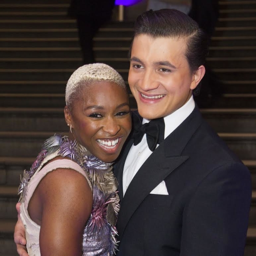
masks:
{"type": "MultiPolygon", "coordinates": [[[[0,255],[17,255],[13,242],[19,175],[45,140],[66,133],[66,81],[81,66],[69,0],[1,0],[0,3],[0,255]],[[61,2],[61,3],[59,3],[61,2]]],[[[224,94],[204,118],[251,171],[253,199],[244,256],[256,255],[256,0],[219,2],[209,65],[224,94]]],[[[95,38],[97,62],[127,81],[131,22],[113,22],[95,38]]],[[[136,103],[130,97],[133,108],[136,103]]]]}

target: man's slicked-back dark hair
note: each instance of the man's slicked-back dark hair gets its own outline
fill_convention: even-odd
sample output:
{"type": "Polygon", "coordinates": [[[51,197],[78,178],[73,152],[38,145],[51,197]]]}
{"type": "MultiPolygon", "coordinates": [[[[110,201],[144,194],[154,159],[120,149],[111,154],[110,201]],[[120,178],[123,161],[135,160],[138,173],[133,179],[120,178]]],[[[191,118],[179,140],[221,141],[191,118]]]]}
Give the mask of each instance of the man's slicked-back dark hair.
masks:
{"type": "MultiPolygon", "coordinates": [[[[190,66],[190,72],[197,71],[204,65],[208,55],[208,38],[197,22],[189,16],[175,9],[149,10],[137,17],[134,26],[134,36],[130,45],[129,58],[133,47],[133,40],[140,35],[152,38],[184,38],[187,43],[185,56],[190,66]]],[[[199,86],[194,90],[196,95],[199,86]]]]}

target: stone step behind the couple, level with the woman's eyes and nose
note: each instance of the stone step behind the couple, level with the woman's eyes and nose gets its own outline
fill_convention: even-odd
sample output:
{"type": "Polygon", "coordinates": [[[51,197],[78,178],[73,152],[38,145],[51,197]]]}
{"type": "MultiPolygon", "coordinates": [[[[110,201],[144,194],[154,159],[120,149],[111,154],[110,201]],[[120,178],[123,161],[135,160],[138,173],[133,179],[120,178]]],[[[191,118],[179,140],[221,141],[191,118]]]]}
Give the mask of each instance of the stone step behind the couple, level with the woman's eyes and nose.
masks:
{"type": "MultiPolygon", "coordinates": [[[[66,131],[63,108],[0,108],[0,131],[66,131]]],[[[218,133],[254,133],[254,109],[201,109],[204,119],[218,133]]]]}

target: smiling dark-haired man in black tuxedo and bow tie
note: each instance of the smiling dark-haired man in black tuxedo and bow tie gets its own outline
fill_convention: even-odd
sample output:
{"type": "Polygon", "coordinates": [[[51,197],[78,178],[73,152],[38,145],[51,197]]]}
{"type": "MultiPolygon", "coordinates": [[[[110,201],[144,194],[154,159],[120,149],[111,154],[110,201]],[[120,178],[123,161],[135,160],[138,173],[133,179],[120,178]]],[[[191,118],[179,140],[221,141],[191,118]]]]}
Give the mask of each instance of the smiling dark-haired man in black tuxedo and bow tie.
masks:
{"type": "Polygon", "coordinates": [[[207,38],[187,15],[164,9],[137,18],[128,82],[142,123],[151,121],[139,128],[135,113],[115,166],[119,256],[244,254],[250,173],[204,122],[192,96],[206,55],[207,38]]]}

